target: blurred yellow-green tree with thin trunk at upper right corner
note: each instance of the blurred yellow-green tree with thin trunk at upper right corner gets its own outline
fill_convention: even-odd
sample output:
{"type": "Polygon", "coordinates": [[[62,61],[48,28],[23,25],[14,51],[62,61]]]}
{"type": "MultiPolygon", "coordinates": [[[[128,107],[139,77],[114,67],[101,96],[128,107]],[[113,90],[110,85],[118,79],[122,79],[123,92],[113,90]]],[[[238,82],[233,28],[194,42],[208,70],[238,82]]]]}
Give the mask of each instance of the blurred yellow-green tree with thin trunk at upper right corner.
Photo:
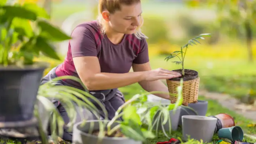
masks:
{"type": "Polygon", "coordinates": [[[256,0],[190,0],[188,6],[213,6],[217,27],[230,36],[246,37],[248,60],[253,61],[253,26],[256,25],[256,0]]]}

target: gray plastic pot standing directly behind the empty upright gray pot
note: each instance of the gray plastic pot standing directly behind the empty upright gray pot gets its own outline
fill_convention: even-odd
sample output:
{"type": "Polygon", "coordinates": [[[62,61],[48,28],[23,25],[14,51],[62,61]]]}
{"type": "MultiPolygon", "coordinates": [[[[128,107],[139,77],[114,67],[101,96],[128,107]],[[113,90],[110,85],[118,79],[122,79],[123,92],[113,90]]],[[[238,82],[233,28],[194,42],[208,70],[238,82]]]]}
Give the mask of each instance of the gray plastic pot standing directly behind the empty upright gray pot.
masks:
{"type": "Polygon", "coordinates": [[[205,116],[208,109],[208,101],[198,100],[197,103],[190,103],[188,107],[182,106],[180,110],[179,126],[182,126],[182,116],[198,115],[205,116]]]}

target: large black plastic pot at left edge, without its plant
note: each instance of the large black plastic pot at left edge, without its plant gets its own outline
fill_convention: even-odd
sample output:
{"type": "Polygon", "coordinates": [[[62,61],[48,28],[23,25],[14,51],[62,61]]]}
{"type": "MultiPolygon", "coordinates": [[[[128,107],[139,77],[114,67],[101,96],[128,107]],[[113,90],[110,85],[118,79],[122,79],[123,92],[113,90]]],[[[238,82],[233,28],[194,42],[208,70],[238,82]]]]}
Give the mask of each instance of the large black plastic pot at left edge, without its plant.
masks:
{"type": "Polygon", "coordinates": [[[28,121],[46,64],[0,67],[0,122],[28,121]]]}

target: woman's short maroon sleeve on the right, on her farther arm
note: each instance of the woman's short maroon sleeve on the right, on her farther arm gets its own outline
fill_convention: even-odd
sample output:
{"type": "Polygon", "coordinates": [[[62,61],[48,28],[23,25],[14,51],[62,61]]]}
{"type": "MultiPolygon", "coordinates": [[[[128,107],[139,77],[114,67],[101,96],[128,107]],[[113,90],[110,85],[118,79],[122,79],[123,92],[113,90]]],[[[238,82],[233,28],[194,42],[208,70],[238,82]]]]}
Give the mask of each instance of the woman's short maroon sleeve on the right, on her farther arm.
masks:
{"type": "Polygon", "coordinates": [[[146,39],[143,38],[140,44],[140,50],[137,57],[133,60],[133,63],[143,64],[149,62],[149,51],[148,51],[148,43],[146,39]]]}

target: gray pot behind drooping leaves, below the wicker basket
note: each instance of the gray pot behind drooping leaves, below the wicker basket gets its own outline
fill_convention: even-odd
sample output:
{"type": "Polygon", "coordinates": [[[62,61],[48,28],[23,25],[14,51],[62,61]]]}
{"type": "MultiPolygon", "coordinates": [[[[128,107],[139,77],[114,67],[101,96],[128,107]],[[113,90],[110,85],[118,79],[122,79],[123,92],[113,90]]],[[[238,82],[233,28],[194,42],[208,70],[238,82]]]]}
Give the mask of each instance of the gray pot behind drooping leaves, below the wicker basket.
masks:
{"type": "MultiPolygon", "coordinates": [[[[169,111],[170,120],[171,120],[171,131],[176,131],[178,129],[180,110],[181,110],[181,107],[178,107],[175,111],[174,110],[169,111]]],[[[155,117],[157,117],[158,115],[159,115],[159,113],[156,113],[155,117]]],[[[157,121],[157,119],[156,120],[154,119],[153,123],[155,121],[157,121]]],[[[153,127],[153,129],[156,130],[158,128],[158,130],[161,130],[161,131],[164,129],[166,132],[170,132],[170,129],[169,129],[170,125],[169,125],[168,121],[163,125],[163,127],[162,127],[162,125],[163,125],[163,120],[161,121],[161,118],[160,118],[159,123],[157,123],[153,127]],[[157,127],[157,125],[158,125],[158,127],[157,127]]]]}

